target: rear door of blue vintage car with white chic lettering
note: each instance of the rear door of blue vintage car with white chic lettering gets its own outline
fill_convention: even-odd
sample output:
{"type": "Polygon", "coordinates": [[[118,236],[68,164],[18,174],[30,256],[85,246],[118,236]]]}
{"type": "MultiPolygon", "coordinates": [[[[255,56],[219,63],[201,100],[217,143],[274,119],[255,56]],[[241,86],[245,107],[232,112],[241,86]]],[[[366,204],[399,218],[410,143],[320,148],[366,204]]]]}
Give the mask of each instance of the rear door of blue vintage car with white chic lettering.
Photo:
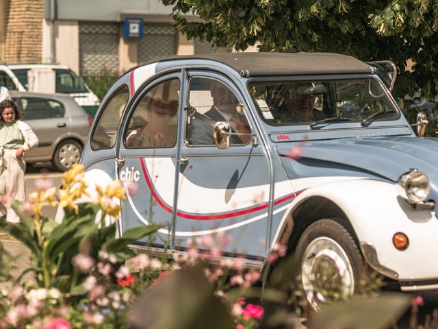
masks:
{"type": "Polygon", "coordinates": [[[127,110],[118,149],[118,178],[127,192],[122,230],[160,223],[164,228],[153,242],[159,247],[170,245],[174,218],[180,75],[140,90],[127,110]]]}

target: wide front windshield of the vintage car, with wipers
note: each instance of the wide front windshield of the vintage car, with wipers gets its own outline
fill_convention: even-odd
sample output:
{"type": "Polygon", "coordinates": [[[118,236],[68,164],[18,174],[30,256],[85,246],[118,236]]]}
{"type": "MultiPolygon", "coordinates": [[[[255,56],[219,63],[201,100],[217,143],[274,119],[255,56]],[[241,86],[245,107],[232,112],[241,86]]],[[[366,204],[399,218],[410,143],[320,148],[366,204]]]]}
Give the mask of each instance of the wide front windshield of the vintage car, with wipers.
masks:
{"type": "MultiPolygon", "coordinates": [[[[385,84],[383,84],[383,82],[381,82],[381,80],[375,75],[325,75],[319,77],[313,77],[307,75],[307,76],[291,76],[291,77],[285,77],[285,76],[253,77],[247,80],[246,88],[248,89],[248,93],[250,94],[250,97],[255,105],[255,108],[257,109],[257,114],[259,115],[259,117],[264,123],[272,127],[309,125],[315,121],[320,121],[325,118],[333,118],[333,117],[338,117],[339,119],[344,119],[344,118],[348,118],[348,119],[338,120],[338,121],[333,120],[332,123],[342,123],[342,124],[361,123],[361,121],[369,117],[370,114],[374,112],[378,112],[379,110],[382,109],[386,109],[388,111],[388,115],[379,116],[378,118],[376,118],[376,120],[373,121],[396,121],[400,119],[401,116],[400,109],[398,108],[394,99],[391,97],[389,90],[385,87],[385,84]],[[363,90],[365,90],[364,89],[365,85],[368,84],[368,93],[370,93],[370,90],[373,91],[373,89],[376,88],[376,90],[374,90],[374,93],[377,93],[378,91],[378,95],[374,95],[375,97],[374,100],[378,101],[378,103],[380,103],[381,105],[372,104],[373,107],[368,106],[368,108],[364,108],[363,109],[364,113],[361,115],[357,114],[356,116],[352,116],[350,114],[350,117],[348,116],[343,117],[342,115],[339,115],[339,110],[342,106],[344,105],[350,106],[350,109],[348,110],[350,110],[351,113],[353,113],[356,105],[356,104],[352,105],[352,100],[348,100],[349,103],[347,104],[341,104],[340,101],[342,101],[342,99],[337,98],[339,97],[339,95],[337,95],[337,92],[339,92],[339,90],[337,88],[334,88],[334,86],[335,85],[340,86],[343,83],[363,84],[363,89],[361,90],[362,92],[363,90]],[[264,87],[266,87],[264,90],[265,99],[260,101],[260,99],[263,98],[263,95],[261,95],[263,93],[263,84],[265,85],[264,87]],[[277,110],[277,114],[275,114],[275,108],[273,108],[273,106],[278,106],[278,104],[275,103],[275,100],[273,101],[272,99],[269,99],[269,97],[267,96],[269,92],[267,92],[266,89],[268,88],[268,86],[271,87],[274,85],[279,86],[281,84],[284,84],[285,86],[287,86],[288,84],[307,85],[308,88],[302,88],[302,87],[298,88],[298,90],[302,90],[301,92],[302,94],[311,93],[312,85],[314,88],[313,90],[315,92],[313,93],[313,96],[317,95],[318,93],[326,93],[326,99],[319,99],[320,103],[318,103],[318,98],[316,98],[314,103],[314,106],[316,108],[315,110],[319,109],[320,111],[318,111],[317,113],[321,115],[315,116],[313,114],[311,118],[302,119],[302,120],[301,119],[292,120],[292,118],[289,121],[279,120],[279,115],[278,115],[279,111],[277,110]],[[329,86],[329,88],[326,88],[326,90],[324,90],[324,86],[329,86]],[[373,88],[370,89],[369,86],[372,86],[373,88]],[[327,104],[332,108],[335,108],[335,111],[334,110],[325,111],[324,106],[328,106],[327,104]],[[369,111],[365,113],[366,112],[365,110],[369,110],[369,111]]],[[[345,93],[345,91],[343,92],[345,93]]],[[[370,95],[372,94],[371,93],[368,94],[368,93],[365,94],[367,94],[367,96],[370,97],[370,95]]],[[[278,99],[279,97],[276,98],[278,99]]],[[[345,103],[345,99],[344,99],[344,103],[345,103]]],[[[316,112],[315,110],[313,110],[313,112],[316,112]]],[[[286,115],[289,116],[289,114],[286,115]]],[[[330,123],[324,125],[328,125],[328,124],[330,123]]]]}

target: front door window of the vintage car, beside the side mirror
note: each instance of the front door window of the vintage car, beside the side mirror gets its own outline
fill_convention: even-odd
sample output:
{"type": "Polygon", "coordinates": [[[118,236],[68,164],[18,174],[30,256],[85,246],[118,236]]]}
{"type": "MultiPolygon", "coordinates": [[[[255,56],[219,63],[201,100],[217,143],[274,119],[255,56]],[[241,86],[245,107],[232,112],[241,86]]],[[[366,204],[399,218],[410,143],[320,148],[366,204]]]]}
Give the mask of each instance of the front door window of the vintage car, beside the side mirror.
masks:
{"type": "Polygon", "coordinates": [[[232,132],[241,134],[231,136],[231,145],[246,144],[250,140],[251,129],[242,101],[223,82],[193,77],[189,83],[188,108],[185,129],[188,145],[214,145],[213,125],[218,121],[227,121],[232,132]]]}

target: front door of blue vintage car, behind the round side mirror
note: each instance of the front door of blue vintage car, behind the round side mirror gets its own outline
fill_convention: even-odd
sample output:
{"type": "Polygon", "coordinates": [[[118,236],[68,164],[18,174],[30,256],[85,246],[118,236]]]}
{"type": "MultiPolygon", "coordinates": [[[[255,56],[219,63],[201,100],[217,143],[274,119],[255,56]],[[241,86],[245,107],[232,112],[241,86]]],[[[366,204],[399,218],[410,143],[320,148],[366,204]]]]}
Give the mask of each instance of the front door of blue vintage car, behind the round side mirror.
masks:
{"type": "MultiPolygon", "coordinates": [[[[248,103],[233,82],[222,75],[190,71],[187,77],[175,247],[185,249],[196,238],[202,238],[215,245],[208,249],[221,253],[266,256],[266,241],[270,240],[270,170],[266,149],[251,136],[246,136],[245,141],[236,141],[232,136],[229,148],[218,149],[208,127],[209,121],[222,121],[214,111],[222,102],[218,105],[222,112],[237,115],[238,108],[241,121],[246,121],[246,130],[259,137],[248,116],[248,103]],[[227,107],[227,103],[231,105],[227,107]]],[[[237,132],[237,127],[233,129],[237,132]]]]}

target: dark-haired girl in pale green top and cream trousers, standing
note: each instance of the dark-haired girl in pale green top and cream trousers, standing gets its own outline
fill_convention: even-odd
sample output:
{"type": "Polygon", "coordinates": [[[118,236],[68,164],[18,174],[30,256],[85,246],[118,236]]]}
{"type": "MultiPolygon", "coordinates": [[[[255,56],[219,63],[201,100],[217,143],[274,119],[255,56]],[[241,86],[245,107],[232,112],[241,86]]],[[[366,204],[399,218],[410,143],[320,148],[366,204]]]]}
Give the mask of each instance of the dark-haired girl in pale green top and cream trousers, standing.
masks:
{"type": "MultiPolygon", "coordinates": [[[[25,202],[24,152],[38,145],[38,137],[27,123],[21,121],[21,114],[15,103],[5,100],[0,103],[0,195],[7,195],[11,202],[25,202]]],[[[18,223],[18,215],[10,203],[0,204],[0,215],[6,220],[18,223]]]]}

